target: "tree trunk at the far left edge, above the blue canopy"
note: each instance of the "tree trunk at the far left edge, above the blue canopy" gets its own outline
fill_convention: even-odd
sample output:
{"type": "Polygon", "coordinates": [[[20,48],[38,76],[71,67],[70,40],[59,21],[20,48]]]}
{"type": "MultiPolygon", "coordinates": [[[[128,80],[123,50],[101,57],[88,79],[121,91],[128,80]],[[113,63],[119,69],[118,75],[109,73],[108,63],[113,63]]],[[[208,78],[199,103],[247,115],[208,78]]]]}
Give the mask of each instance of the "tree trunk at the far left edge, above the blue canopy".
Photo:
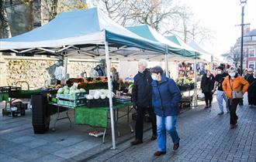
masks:
{"type": "Polygon", "coordinates": [[[0,20],[3,27],[3,38],[12,37],[11,28],[6,13],[5,0],[0,0],[0,20]]]}

